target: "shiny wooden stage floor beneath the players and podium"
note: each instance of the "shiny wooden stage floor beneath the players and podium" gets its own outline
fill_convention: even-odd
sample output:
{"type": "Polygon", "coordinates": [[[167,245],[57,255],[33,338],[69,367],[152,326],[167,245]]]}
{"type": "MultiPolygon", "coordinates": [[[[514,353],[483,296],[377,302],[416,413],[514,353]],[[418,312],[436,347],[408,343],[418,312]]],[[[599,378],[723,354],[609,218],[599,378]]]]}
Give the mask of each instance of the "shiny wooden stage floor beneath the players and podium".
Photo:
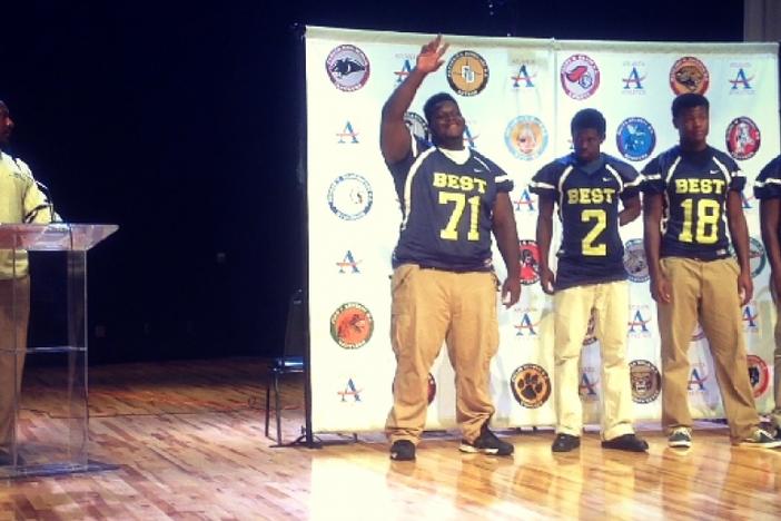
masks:
{"type": "MultiPolygon", "coordinates": [[[[257,358],[95,367],[90,454],[120,468],[0,481],[0,520],[781,519],[781,450],[732,448],[723,427],[696,430],[688,453],[668,449],[655,426],[643,432],[649,454],[603,451],[591,433],[579,452],[553,455],[550,430],[504,433],[512,459],[461,454],[455,433],[427,438],[416,462],[389,461],[379,434],[271,449],[265,367],[257,358]]],[[[26,374],[37,396],[46,371],[26,374]]],[[[287,382],[291,440],[303,383],[287,382]]],[[[23,413],[42,421],[36,407],[23,413]]]]}

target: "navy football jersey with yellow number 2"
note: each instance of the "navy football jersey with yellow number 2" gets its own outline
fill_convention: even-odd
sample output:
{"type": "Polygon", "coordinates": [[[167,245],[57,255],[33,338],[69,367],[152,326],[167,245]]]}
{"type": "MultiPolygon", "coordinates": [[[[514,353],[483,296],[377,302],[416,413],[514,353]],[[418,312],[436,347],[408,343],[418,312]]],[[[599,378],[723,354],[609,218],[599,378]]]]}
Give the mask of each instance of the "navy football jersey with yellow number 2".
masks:
{"type": "Polygon", "coordinates": [[[619,199],[637,196],[641,177],[606,154],[587,168],[570,154],[545,165],[530,184],[533,193],[552,196],[557,204],[562,244],[556,289],[626,278],[619,199]]]}

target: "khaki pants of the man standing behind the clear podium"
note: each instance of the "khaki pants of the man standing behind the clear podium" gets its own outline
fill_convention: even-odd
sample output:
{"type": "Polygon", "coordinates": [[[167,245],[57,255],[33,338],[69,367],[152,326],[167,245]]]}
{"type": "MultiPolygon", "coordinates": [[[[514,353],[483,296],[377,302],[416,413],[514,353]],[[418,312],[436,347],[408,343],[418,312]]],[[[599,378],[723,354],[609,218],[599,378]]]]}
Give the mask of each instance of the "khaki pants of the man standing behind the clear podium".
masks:
{"type": "Polygon", "coordinates": [[[30,277],[0,279],[0,449],[6,451],[16,427],[29,318],[30,277]]]}

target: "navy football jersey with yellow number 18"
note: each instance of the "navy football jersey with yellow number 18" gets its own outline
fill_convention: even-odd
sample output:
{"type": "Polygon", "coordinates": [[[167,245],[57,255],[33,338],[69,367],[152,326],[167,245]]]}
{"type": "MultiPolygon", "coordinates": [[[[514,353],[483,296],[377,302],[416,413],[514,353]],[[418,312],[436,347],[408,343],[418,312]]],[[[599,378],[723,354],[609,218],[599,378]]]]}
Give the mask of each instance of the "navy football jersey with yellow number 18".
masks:
{"type": "Polygon", "coordinates": [[[745,186],[730,156],[712,147],[691,153],[675,146],[649,163],[643,174],[643,191],[664,195],[662,257],[714,260],[730,255],[726,195],[745,186]]]}

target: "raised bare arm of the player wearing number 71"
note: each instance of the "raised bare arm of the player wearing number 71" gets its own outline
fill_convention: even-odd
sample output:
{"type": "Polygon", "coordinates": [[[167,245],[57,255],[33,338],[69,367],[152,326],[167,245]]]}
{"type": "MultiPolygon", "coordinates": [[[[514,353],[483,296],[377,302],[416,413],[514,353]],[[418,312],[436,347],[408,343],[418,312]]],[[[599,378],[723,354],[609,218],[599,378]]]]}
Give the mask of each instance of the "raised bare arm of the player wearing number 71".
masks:
{"type": "Polygon", "coordinates": [[[379,126],[379,148],[387,163],[398,163],[409,151],[409,131],[404,124],[404,112],[409,109],[415,92],[426,76],[444,63],[442,57],[447,47],[447,43],[442,42],[442,35],[423,46],[417,55],[415,68],[385,101],[379,126]]]}

